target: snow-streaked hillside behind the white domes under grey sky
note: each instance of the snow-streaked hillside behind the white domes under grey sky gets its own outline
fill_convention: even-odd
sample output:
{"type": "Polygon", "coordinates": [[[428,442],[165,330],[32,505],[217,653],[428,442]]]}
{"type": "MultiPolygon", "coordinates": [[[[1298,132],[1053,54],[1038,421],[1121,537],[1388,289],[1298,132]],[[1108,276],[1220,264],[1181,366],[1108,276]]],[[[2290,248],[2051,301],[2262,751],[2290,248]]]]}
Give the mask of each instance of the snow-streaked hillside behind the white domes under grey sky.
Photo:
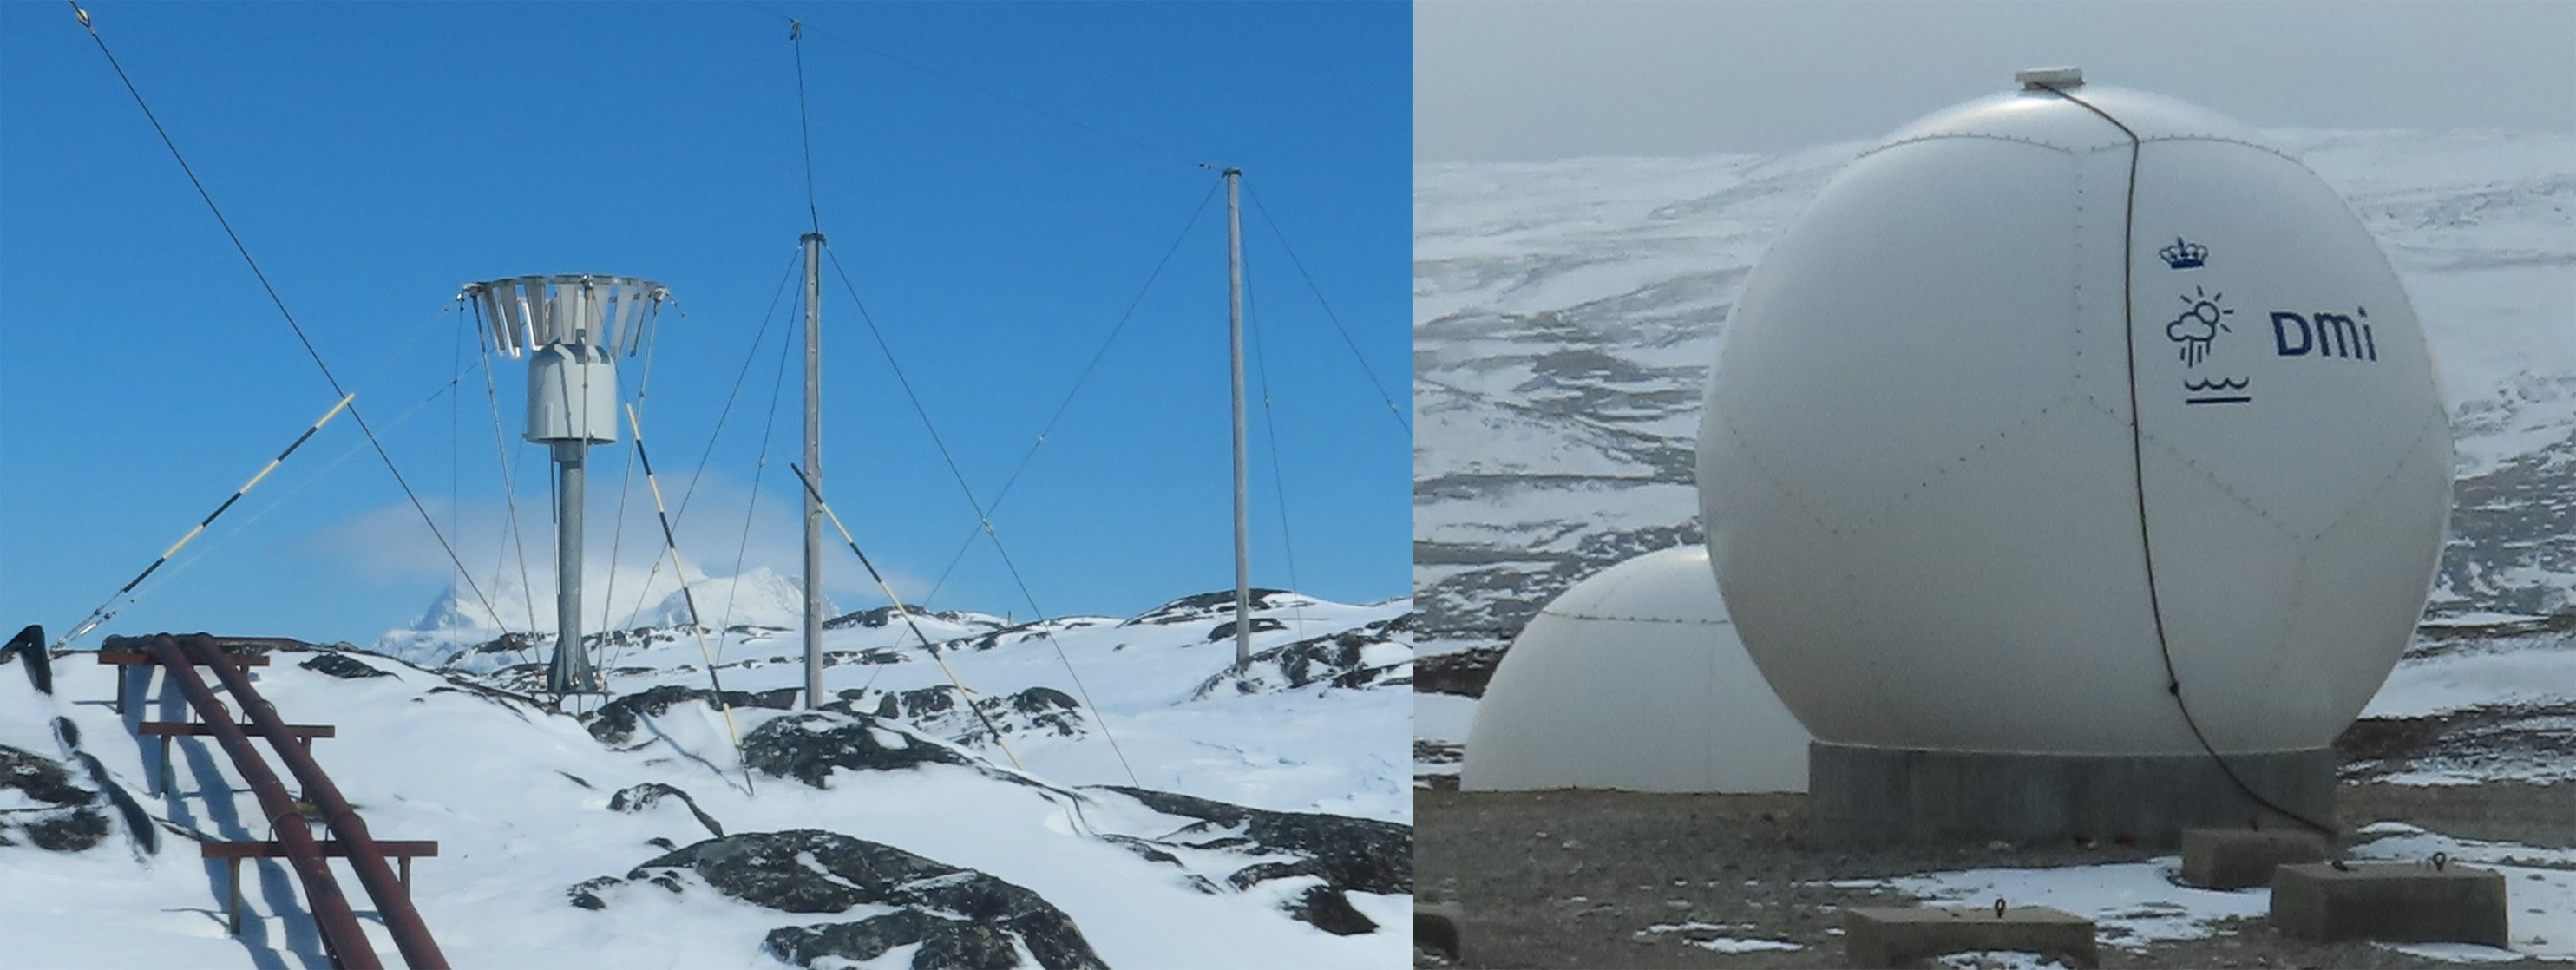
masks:
{"type": "MultiPolygon", "coordinates": [[[[2576,136],[2272,131],[2383,242],[2458,432],[2437,612],[2576,607],[2576,136]]],[[[1414,594],[1425,687],[1473,690],[1540,605],[1698,540],[1692,450],[1728,301],[1865,144],[1417,165],[1414,594]]]]}

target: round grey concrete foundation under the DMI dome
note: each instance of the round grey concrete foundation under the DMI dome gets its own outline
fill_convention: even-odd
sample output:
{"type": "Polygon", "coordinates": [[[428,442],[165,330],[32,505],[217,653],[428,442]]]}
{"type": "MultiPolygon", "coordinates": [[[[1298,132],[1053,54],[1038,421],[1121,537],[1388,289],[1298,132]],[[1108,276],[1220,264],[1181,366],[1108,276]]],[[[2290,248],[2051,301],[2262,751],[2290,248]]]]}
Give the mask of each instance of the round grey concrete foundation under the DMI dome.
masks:
{"type": "MultiPolygon", "coordinates": [[[[2334,823],[2334,749],[2228,754],[2277,805],[2334,823]]],[[[2208,754],[2002,754],[1808,744],[1816,836],[1850,844],[2136,841],[2184,828],[2306,828],[2246,798],[2208,754]]]]}

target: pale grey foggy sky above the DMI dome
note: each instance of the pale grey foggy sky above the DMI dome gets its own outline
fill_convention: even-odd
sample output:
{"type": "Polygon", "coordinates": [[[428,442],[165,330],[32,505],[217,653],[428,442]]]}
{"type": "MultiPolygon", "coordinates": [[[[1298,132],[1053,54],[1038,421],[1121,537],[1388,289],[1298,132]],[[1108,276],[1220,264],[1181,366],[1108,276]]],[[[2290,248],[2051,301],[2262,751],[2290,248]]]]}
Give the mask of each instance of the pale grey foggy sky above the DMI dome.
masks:
{"type": "Polygon", "coordinates": [[[1875,139],[2076,64],[2251,126],[2576,131],[2576,3],[1414,5],[1414,160],[1875,139]]]}

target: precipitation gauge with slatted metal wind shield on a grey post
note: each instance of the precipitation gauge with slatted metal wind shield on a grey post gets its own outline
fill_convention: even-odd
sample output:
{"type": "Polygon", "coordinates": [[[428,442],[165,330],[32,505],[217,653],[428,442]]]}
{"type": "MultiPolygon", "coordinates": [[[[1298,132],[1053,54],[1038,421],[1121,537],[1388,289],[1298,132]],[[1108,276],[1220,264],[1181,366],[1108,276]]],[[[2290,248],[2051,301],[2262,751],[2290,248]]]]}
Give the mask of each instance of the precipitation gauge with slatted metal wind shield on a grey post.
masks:
{"type": "MultiPolygon", "coordinates": [[[[518,275],[466,283],[492,327],[492,342],[528,355],[528,440],[551,445],[554,659],[546,690],[595,695],[600,674],[582,651],[582,461],[590,445],[618,440],[618,355],[634,355],[670,291],[629,275],[518,275]]],[[[495,618],[497,620],[497,618],[495,618]]]]}

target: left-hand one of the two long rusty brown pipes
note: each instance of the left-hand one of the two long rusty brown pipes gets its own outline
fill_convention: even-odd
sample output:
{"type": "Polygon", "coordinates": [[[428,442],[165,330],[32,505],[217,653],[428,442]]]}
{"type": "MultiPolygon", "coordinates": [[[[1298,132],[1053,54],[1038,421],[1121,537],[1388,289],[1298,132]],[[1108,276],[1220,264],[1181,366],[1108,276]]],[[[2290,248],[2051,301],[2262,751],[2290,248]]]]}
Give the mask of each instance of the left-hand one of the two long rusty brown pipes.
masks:
{"type": "MultiPolygon", "coordinates": [[[[188,697],[196,715],[214,731],[214,741],[224,746],[224,754],[232,756],[232,767],[242,772],[242,780],[250,782],[250,792],[258,795],[260,813],[268,816],[276,839],[286,844],[286,862],[296,870],[296,880],[304,883],[304,906],[312,906],[314,924],[322,929],[322,942],[330,947],[332,962],[350,970],[384,970],[384,960],[376,960],[376,944],[366,939],[366,929],[358,926],[358,913],[350,911],[348,895],[340,893],[340,880],[330,872],[330,862],[322,859],[322,846],[314,844],[312,828],[307,828],[304,818],[296,816],[296,805],[294,798],[286,795],[286,785],[278,785],[278,774],[268,769],[265,759],[260,759],[250,736],[232,720],[224,702],[214,697],[206,679],[196,674],[191,654],[183,651],[167,633],[149,638],[111,636],[103,646],[142,648],[170,669],[170,684],[178,684],[178,692],[188,697]]],[[[227,669],[222,659],[214,661],[219,664],[216,669],[227,669]]],[[[240,677],[240,672],[234,672],[234,677],[240,677]]],[[[245,708],[258,710],[255,697],[240,697],[245,708]]],[[[294,749],[294,744],[289,744],[289,749],[294,749]]]]}

